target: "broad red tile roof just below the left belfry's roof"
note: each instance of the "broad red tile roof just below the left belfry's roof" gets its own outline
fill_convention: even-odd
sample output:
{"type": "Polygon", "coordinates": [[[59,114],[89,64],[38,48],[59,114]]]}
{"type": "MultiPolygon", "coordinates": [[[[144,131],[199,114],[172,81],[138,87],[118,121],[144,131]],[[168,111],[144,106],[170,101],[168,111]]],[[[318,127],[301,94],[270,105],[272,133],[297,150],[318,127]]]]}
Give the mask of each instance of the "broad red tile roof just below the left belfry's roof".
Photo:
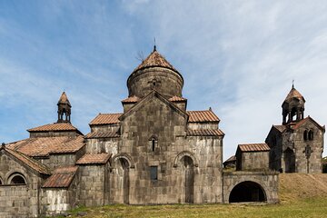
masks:
{"type": "Polygon", "coordinates": [[[6,146],[33,157],[48,156],[49,154],[72,154],[84,146],[84,136],[28,138],[6,146]]]}

